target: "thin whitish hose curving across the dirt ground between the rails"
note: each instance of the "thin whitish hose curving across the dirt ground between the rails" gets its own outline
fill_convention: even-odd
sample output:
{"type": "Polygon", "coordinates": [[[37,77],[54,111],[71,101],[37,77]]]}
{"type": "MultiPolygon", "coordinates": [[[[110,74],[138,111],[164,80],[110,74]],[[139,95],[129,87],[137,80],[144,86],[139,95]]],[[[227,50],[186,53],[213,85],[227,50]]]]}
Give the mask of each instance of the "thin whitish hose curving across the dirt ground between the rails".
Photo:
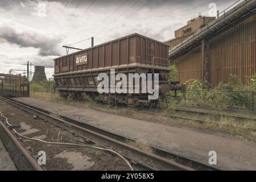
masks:
{"type": "MultiPolygon", "coordinates": [[[[8,122],[8,118],[5,117],[5,115],[3,115],[0,111],[0,114],[3,118],[5,118],[5,121],[7,123],[7,125],[9,126],[13,126],[8,122]]],[[[117,152],[115,152],[114,150],[110,150],[108,148],[101,148],[101,147],[96,147],[96,146],[89,146],[86,144],[77,144],[77,143],[61,143],[61,142],[47,142],[41,139],[35,139],[35,138],[30,138],[30,137],[26,137],[20,133],[18,133],[18,131],[16,131],[15,129],[12,129],[14,131],[14,133],[16,133],[17,135],[19,135],[19,137],[25,138],[25,139],[29,139],[29,140],[34,140],[34,141],[38,141],[38,142],[42,142],[42,143],[47,143],[47,144],[57,144],[57,145],[68,145],[68,146],[79,146],[79,147],[87,147],[87,148],[96,148],[98,150],[103,150],[103,151],[108,151],[108,152],[112,152],[113,154],[119,156],[119,158],[123,159],[126,164],[129,166],[129,168],[131,169],[131,171],[134,171],[133,167],[131,166],[131,164],[129,163],[129,161],[127,159],[125,159],[122,155],[118,154],[117,152]]]]}

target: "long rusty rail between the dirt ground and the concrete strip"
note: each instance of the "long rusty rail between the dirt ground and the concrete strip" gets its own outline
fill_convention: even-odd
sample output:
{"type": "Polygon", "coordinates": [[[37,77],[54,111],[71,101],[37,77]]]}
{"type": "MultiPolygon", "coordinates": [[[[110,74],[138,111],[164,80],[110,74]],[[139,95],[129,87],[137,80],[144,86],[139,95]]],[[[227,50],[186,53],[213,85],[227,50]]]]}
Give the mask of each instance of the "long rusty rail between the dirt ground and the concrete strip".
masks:
{"type": "Polygon", "coordinates": [[[65,118],[63,116],[56,117],[56,115],[53,116],[54,113],[49,113],[46,110],[39,110],[35,107],[24,105],[7,98],[0,97],[0,99],[10,105],[51,122],[61,129],[68,130],[74,135],[81,137],[85,143],[97,144],[104,148],[113,148],[115,151],[124,151],[122,152],[122,156],[129,160],[132,166],[138,170],[218,170],[205,164],[186,159],[182,156],[159,150],[155,147],[150,147],[150,152],[144,151],[127,144],[127,140],[129,140],[127,138],[108,133],[104,130],[77,122],[70,118],[65,118]]]}

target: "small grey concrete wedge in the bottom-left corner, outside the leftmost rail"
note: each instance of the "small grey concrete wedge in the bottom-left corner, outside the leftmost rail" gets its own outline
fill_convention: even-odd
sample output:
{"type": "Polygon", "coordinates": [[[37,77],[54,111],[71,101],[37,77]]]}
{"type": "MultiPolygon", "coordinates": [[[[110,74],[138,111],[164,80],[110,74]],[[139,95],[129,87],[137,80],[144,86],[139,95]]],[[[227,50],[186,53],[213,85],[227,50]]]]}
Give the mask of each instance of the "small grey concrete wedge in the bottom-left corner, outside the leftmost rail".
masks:
{"type": "Polygon", "coordinates": [[[0,140],[0,171],[16,171],[16,167],[11,160],[9,153],[6,151],[5,146],[3,146],[0,140]]]}

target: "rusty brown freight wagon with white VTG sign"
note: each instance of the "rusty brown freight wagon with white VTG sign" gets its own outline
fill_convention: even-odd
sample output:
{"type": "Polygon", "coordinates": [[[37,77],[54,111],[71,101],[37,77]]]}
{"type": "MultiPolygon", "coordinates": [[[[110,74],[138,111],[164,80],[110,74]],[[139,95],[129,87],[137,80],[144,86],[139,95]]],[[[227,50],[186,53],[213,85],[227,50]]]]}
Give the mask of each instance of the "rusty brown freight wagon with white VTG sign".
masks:
{"type": "MultiPolygon", "coordinates": [[[[98,96],[97,86],[100,73],[159,73],[159,92],[163,96],[170,90],[179,89],[177,82],[168,81],[168,45],[139,34],[90,47],[55,59],[55,89],[60,96],[79,98],[86,93],[92,98],[98,96]]],[[[140,83],[141,84],[141,83],[140,83]]],[[[129,105],[156,105],[148,101],[148,93],[102,94],[102,101],[111,104],[125,102],[129,105]]]]}

